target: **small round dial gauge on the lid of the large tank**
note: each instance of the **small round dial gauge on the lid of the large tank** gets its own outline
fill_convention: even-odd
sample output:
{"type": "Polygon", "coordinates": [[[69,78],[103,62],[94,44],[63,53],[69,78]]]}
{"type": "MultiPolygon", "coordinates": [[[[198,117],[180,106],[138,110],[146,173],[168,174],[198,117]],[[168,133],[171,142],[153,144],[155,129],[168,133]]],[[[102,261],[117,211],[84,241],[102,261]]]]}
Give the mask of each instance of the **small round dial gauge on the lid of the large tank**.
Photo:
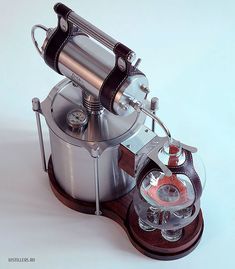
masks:
{"type": "Polygon", "coordinates": [[[67,114],[67,124],[72,131],[83,131],[88,123],[88,115],[83,107],[76,108],[67,114]]]}

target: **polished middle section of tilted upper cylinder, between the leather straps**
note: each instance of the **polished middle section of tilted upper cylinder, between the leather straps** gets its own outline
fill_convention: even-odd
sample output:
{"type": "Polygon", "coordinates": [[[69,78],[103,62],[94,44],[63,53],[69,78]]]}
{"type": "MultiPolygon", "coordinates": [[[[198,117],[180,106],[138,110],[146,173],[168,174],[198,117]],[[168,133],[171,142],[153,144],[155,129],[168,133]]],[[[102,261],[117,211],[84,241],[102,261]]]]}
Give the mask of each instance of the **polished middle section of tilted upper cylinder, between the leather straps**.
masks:
{"type": "Polygon", "coordinates": [[[71,37],[58,59],[60,72],[96,98],[114,64],[114,55],[86,35],[71,37]]]}

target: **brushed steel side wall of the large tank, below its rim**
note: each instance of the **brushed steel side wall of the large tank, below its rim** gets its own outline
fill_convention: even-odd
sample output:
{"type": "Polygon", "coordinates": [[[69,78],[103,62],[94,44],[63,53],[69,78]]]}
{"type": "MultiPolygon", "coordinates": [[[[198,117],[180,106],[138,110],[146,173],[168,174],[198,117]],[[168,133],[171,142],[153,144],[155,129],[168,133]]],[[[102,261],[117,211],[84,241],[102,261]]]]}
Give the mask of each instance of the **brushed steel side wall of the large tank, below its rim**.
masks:
{"type": "MultiPolygon", "coordinates": [[[[72,197],[95,201],[94,158],[83,147],[71,145],[50,131],[54,173],[61,187],[72,197]]],[[[99,200],[116,199],[129,192],[135,180],[118,167],[118,146],[99,157],[99,200]]]]}

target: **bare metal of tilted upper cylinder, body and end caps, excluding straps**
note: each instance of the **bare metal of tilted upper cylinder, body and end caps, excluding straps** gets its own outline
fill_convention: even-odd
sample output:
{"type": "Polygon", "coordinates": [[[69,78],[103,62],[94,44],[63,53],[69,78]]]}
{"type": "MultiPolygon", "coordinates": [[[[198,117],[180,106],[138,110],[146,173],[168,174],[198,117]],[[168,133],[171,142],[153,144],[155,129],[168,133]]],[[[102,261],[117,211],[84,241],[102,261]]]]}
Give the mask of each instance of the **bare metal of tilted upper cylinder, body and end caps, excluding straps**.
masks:
{"type": "MultiPolygon", "coordinates": [[[[52,32],[53,29],[47,31],[47,37],[42,46],[42,56],[52,32]]],[[[58,57],[60,72],[97,99],[114,65],[114,54],[95,43],[84,33],[76,31],[58,57]]],[[[148,89],[148,80],[144,75],[133,75],[126,79],[114,99],[115,113],[122,116],[131,114],[133,108],[129,105],[129,98],[137,98],[138,101],[143,102],[146,98],[146,91],[143,89],[148,89]]]]}

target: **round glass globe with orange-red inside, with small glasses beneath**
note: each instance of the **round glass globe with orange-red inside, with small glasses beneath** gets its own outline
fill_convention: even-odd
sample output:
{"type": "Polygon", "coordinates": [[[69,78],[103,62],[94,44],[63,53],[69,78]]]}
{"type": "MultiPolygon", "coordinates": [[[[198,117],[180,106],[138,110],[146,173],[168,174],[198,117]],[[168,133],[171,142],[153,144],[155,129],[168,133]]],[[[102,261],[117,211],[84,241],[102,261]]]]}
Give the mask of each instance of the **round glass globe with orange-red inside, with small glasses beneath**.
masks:
{"type": "Polygon", "coordinates": [[[171,176],[166,176],[157,165],[140,173],[134,206],[143,230],[161,229],[166,240],[176,241],[182,228],[197,217],[205,170],[196,155],[174,140],[158,153],[171,176]]]}

